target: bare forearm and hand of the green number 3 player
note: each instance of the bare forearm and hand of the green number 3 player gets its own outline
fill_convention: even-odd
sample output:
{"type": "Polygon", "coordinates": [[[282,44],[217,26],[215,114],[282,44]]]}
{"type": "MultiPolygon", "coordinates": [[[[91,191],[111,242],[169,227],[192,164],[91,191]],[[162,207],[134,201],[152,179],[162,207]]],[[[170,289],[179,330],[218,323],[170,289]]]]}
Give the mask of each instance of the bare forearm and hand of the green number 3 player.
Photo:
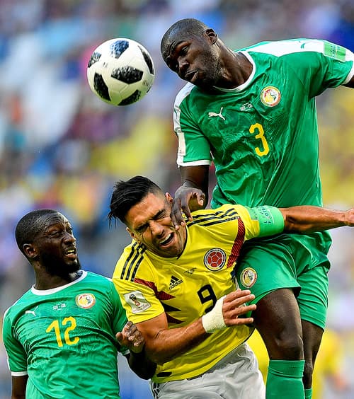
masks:
{"type": "Polygon", "coordinates": [[[173,197],[171,219],[178,228],[184,223],[182,212],[192,220],[190,212],[205,208],[208,201],[209,165],[181,166],[182,185],[173,197]]]}

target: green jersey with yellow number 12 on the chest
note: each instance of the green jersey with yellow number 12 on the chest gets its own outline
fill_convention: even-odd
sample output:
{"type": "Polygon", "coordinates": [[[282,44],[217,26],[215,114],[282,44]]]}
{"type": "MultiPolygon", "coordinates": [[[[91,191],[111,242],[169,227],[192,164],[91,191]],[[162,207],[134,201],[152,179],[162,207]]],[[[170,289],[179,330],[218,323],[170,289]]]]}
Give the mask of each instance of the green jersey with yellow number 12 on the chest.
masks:
{"type": "Polygon", "coordinates": [[[120,398],[115,340],[127,323],[113,282],[83,271],[62,287],[31,288],[4,315],[12,376],[28,374],[26,398],[120,398]]]}

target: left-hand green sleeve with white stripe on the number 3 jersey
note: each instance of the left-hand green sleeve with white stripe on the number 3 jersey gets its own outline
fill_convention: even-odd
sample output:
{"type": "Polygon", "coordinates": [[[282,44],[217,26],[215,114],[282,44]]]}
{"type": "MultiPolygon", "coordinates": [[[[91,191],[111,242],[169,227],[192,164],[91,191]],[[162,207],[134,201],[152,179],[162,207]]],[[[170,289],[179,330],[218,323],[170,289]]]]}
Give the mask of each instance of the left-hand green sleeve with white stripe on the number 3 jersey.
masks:
{"type": "Polygon", "coordinates": [[[190,109],[190,90],[186,85],[178,93],[173,108],[173,127],[178,138],[178,166],[210,165],[210,144],[194,120],[190,109]]]}

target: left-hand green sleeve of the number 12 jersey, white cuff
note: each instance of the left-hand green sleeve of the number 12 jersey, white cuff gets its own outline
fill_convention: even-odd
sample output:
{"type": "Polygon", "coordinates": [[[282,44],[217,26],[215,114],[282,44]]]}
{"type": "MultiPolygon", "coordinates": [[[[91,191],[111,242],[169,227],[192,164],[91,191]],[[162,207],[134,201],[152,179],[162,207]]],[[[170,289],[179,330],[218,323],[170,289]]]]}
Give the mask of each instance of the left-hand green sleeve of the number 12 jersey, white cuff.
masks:
{"type": "Polygon", "coordinates": [[[12,376],[25,376],[27,373],[27,355],[25,349],[13,336],[11,318],[6,311],[3,323],[3,340],[7,353],[8,368],[12,376]]]}

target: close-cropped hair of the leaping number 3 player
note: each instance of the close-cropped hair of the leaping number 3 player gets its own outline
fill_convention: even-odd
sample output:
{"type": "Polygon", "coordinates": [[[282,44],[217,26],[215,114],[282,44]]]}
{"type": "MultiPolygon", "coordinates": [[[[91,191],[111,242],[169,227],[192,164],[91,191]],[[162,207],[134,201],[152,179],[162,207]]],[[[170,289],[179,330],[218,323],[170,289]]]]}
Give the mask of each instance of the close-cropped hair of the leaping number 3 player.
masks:
{"type": "Polygon", "coordinates": [[[201,36],[207,28],[205,23],[195,18],[184,18],[173,23],[161,39],[162,58],[166,58],[166,53],[169,52],[171,44],[176,42],[176,39],[179,41],[189,37],[201,36]]]}

